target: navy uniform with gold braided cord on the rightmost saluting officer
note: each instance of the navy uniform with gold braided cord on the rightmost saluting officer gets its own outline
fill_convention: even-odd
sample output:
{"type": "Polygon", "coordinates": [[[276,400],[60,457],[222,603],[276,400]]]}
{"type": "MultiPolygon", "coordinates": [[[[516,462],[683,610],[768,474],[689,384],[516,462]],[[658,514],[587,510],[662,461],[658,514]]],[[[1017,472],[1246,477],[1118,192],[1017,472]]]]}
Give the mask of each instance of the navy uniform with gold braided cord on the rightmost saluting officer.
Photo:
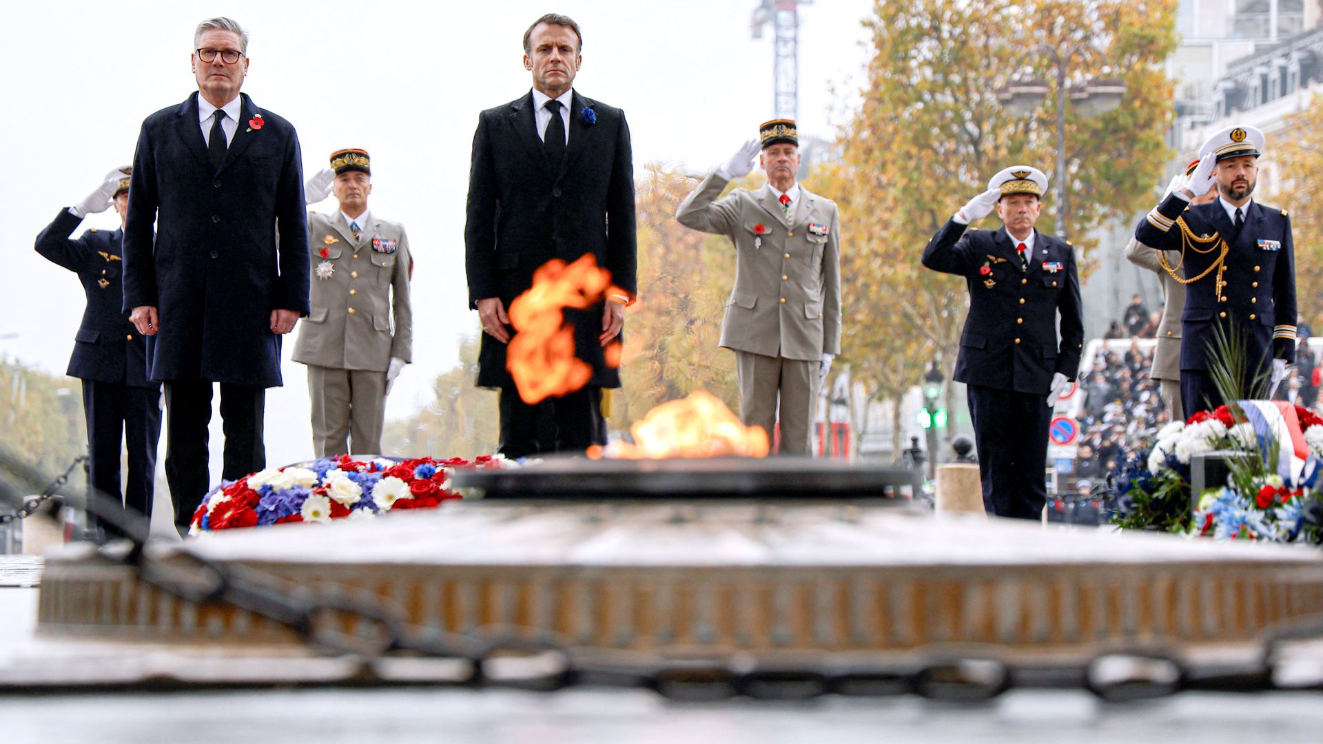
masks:
{"type": "Polygon", "coordinates": [[[1295,361],[1295,253],[1285,209],[1252,200],[1237,233],[1221,197],[1191,205],[1172,195],[1139,222],[1135,238],[1183,252],[1185,277],[1203,275],[1185,286],[1180,315],[1180,398],[1187,414],[1225,402],[1208,373],[1217,327],[1245,340],[1252,375],[1266,375],[1273,359],[1295,361]]]}

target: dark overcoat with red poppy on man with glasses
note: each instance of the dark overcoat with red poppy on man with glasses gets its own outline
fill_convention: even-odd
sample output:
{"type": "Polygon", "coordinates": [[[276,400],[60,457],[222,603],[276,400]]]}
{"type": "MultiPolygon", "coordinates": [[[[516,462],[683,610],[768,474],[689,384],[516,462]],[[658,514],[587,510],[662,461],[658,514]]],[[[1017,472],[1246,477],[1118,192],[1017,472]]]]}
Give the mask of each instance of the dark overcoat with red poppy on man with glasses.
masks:
{"type": "Polygon", "coordinates": [[[303,155],[294,127],[243,95],[213,168],[197,94],[147,116],[134,152],[124,230],[124,311],[149,304],[153,380],[280,384],[273,310],[308,314],[303,155]],[[262,127],[250,122],[262,115],[262,127]],[[155,249],[152,222],[157,224],[155,249]]]}

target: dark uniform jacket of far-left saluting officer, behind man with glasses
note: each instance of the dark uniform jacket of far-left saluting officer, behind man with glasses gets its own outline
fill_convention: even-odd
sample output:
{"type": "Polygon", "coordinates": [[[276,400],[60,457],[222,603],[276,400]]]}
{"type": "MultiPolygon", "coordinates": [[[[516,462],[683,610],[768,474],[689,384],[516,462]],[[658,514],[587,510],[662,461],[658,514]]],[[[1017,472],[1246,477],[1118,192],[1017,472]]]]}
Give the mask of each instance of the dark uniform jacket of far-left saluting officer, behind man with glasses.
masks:
{"type": "Polygon", "coordinates": [[[74,353],[69,357],[70,377],[114,383],[135,388],[159,388],[147,380],[147,342],[124,318],[123,253],[124,233],[85,232],[70,240],[81,217],[61,209],[46,229],[37,236],[37,253],[78,274],[87,308],[74,336],[74,353]]]}

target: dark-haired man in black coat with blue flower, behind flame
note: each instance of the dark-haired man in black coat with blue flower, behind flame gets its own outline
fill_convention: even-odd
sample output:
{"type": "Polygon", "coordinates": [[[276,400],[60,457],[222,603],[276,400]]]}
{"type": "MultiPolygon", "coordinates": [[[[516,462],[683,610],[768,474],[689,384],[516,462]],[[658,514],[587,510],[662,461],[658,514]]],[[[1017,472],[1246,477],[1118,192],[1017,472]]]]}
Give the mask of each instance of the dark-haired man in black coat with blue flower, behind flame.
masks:
{"type": "Polygon", "coordinates": [[[464,228],[468,302],[483,326],[478,385],[500,389],[500,451],[579,451],[601,443],[602,388],[620,387],[606,363],[635,283],[634,165],[624,113],[573,90],[582,57],[578,24],[549,13],[524,33],[533,90],[479,115],[464,228]],[[537,405],[519,397],[505,368],[512,328],[505,311],[553,258],[593,254],[627,295],[566,310],[576,355],[593,368],[587,385],[548,398],[554,443],[538,437],[537,405]]]}

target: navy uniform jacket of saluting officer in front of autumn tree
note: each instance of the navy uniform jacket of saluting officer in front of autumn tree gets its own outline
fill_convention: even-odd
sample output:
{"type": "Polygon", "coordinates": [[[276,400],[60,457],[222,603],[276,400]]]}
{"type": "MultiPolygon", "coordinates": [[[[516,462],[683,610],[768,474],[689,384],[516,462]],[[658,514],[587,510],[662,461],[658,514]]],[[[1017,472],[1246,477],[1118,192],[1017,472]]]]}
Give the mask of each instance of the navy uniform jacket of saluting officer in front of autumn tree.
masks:
{"type": "Polygon", "coordinates": [[[955,379],[1043,396],[1053,373],[1074,380],[1084,351],[1084,318],[1070,244],[1035,230],[1033,256],[1024,269],[1004,229],[966,228],[949,220],[923,249],[923,266],[959,274],[970,289],[955,379]],[[1052,271],[1044,262],[1060,266],[1052,271]]]}

